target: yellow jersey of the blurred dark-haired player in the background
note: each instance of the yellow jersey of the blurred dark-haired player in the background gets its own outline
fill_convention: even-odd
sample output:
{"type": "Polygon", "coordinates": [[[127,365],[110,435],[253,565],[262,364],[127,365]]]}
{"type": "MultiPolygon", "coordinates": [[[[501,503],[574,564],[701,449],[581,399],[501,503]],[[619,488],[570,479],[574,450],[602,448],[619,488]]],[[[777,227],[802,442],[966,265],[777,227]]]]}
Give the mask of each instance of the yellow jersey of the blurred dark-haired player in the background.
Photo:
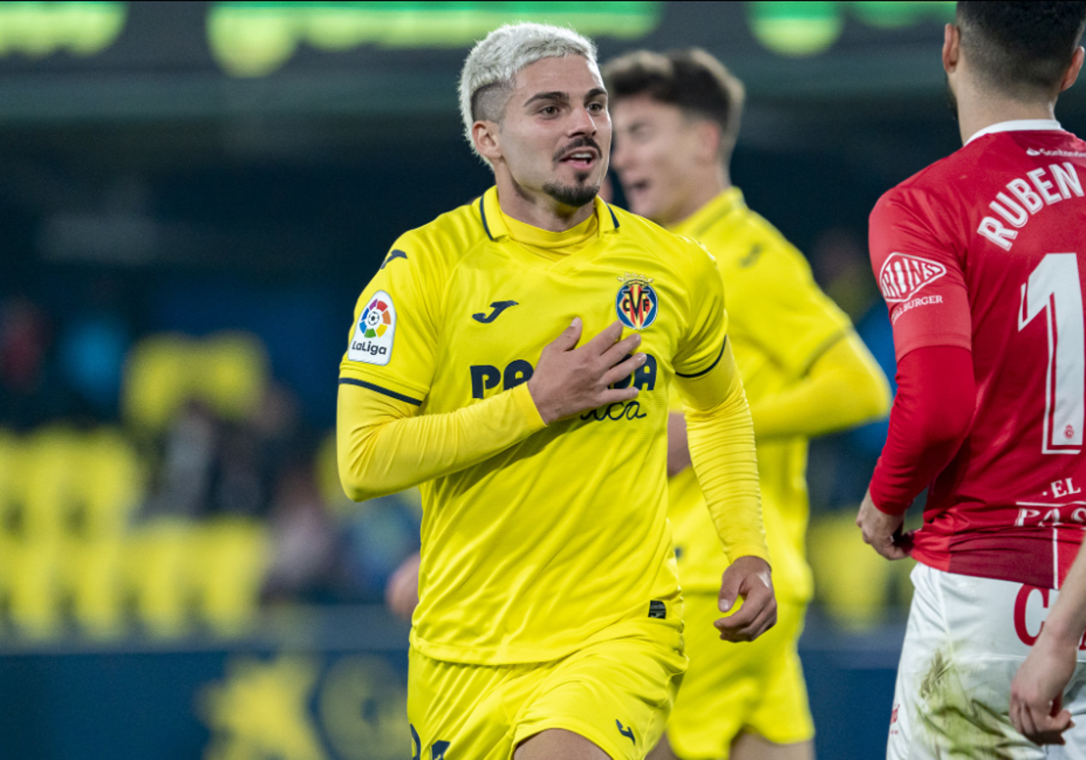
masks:
{"type": "MultiPolygon", "coordinates": [[[[729,339],[758,433],[774,590],[778,598],[807,601],[812,592],[805,535],[808,439],[799,431],[844,428],[885,414],[885,378],[848,317],[815,283],[803,255],[746,206],[737,188],[720,193],[672,231],[697,240],[717,258],[728,294],[729,339]],[[811,366],[825,357],[842,357],[843,368],[813,389],[821,396],[794,394],[811,366]],[[781,429],[794,432],[781,435],[781,429]]],[[[694,471],[671,478],[669,487],[682,587],[716,591],[729,560],[709,534],[694,471]]]]}

